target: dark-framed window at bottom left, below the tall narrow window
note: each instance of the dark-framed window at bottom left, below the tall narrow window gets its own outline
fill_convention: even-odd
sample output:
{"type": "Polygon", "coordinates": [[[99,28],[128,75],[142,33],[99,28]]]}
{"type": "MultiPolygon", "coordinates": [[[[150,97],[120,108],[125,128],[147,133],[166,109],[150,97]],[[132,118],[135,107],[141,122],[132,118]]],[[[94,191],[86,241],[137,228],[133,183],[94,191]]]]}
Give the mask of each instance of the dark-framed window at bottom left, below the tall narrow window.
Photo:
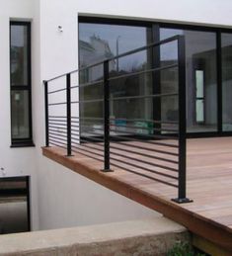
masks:
{"type": "Polygon", "coordinates": [[[28,177],[0,178],[0,234],[30,230],[28,177]]]}

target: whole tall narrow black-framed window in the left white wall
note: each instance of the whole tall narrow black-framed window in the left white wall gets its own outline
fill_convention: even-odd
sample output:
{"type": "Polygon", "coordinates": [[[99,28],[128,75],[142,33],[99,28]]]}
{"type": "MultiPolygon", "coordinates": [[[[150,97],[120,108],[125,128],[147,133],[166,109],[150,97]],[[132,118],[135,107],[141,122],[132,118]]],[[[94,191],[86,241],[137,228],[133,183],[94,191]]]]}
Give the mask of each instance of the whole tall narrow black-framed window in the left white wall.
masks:
{"type": "Polygon", "coordinates": [[[12,146],[34,145],[31,102],[31,24],[10,23],[12,146]]]}

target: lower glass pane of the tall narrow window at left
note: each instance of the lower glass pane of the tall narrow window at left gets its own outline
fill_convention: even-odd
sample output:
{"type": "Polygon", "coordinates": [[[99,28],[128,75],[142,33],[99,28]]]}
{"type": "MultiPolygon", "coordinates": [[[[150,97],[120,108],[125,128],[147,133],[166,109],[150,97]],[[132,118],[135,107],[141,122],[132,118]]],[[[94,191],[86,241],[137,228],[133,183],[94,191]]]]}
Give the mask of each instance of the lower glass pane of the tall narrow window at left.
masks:
{"type": "Polygon", "coordinates": [[[12,138],[28,138],[29,130],[29,93],[11,91],[12,138]]]}

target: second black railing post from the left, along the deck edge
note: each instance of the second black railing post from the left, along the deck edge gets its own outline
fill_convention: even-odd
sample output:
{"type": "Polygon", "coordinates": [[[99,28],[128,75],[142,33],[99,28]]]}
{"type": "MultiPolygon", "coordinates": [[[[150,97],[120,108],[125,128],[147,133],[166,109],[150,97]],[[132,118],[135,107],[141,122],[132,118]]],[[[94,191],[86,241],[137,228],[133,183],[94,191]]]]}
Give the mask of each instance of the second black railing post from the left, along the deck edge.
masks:
{"type": "Polygon", "coordinates": [[[71,140],[71,75],[66,75],[67,155],[72,155],[71,140]]]}

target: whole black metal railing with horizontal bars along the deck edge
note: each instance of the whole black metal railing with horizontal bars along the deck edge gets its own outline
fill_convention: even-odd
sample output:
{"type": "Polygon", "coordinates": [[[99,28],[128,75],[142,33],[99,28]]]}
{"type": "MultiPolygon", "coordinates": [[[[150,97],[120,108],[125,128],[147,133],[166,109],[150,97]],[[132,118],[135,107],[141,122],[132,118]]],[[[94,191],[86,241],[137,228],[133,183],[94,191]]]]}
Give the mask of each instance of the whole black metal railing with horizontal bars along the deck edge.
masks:
{"type": "Polygon", "coordinates": [[[151,43],[43,83],[46,146],[65,148],[67,156],[75,152],[96,159],[103,163],[105,172],[120,169],[177,188],[178,197],[173,200],[191,202],[186,196],[186,57],[183,36],[151,43]],[[178,57],[175,63],[161,65],[161,56],[158,56],[159,66],[123,73],[111,68],[114,61],[118,66],[118,60],[123,57],[144,50],[152,51],[169,43],[176,43],[178,57]],[[155,75],[159,74],[160,79],[164,70],[175,70],[178,77],[178,88],[171,92],[160,89],[159,93],[153,90],[153,93],[118,96],[114,89],[115,93],[111,93],[112,87],[121,84],[123,79],[142,75],[151,75],[152,87],[157,86],[154,81],[161,81],[155,75]],[[90,73],[95,78],[85,77],[90,73]],[[85,88],[96,90],[100,96],[90,98],[85,88]],[[178,103],[177,117],[163,120],[161,112],[165,106],[162,104],[174,98],[178,103]],[[149,100],[153,109],[160,112],[158,120],[157,117],[145,118],[144,113],[131,118],[111,116],[114,105],[129,109],[131,101],[149,100]],[[121,102],[125,102],[124,105],[121,102]]]}

